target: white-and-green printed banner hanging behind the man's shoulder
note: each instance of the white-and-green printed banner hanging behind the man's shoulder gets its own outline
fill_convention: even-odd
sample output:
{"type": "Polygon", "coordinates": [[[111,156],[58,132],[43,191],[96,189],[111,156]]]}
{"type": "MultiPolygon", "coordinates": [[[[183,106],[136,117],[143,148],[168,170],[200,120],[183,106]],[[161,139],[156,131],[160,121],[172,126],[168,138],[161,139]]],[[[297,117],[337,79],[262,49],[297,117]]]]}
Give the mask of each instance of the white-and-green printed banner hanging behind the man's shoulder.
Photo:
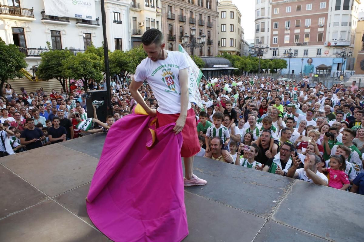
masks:
{"type": "Polygon", "coordinates": [[[178,45],[179,52],[185,54],[187,61],[190,64],[190,68],[188,70],[188,90],[190,92],[190,101],[194,102],[197,106],[203,108],[201,94],[199,91],[200,81],[203,77],[202,71],[198,68],[196,63],[192,60],[190,55],[183,49],[182,45],[178,45]]]}

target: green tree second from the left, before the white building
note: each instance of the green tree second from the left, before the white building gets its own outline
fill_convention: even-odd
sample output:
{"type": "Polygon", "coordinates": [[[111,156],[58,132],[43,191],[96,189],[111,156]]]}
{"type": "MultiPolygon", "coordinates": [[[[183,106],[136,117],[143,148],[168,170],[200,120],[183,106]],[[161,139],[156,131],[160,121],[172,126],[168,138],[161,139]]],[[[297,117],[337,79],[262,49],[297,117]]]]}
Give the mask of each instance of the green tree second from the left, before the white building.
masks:
{"type": "Polygon", "coordinates": [[[36,72],[37,76],[44,81],[50,79],[57,79],[62,85],[64,91],[66,89],[67,75],[65,69],[62,65],[62,61],[67,60],[74,56],[74,53],[70,50],[53,50],[50,48],[50,43],[47,43],[49,47],[49,52],[43,52],[40,54],[41,62],[39,64],[38,70],[36,72]]]}

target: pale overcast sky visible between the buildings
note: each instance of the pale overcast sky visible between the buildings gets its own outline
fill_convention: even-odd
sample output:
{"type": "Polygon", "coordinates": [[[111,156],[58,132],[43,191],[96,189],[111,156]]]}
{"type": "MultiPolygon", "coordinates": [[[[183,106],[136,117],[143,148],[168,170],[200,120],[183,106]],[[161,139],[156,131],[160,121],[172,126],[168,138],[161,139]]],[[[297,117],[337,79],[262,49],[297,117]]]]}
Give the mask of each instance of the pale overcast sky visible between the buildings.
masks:
{"type": "MultiPolygon", "coordinates": [[[[254,15],[256,0],[232,0],[238,7],[242,17],[241,26],[244,28],[244,38],[249,43],[254,42],[254,15]]],[[[364,0],[361,0],[360,10],[364,11],[364,0]]]]}

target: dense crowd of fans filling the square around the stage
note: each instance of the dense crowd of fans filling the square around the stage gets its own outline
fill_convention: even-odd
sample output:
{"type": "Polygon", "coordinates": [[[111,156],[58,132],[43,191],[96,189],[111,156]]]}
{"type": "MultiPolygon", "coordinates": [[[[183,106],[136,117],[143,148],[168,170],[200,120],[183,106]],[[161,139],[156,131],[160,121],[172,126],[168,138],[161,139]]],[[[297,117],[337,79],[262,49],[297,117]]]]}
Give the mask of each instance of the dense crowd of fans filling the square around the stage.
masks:
{"type": "MultiPolygon", "coordinates": [[[[106,89],[105,84],[91,80],[88,88],[106,89]]],[[[136,104],[129,84],[130,77],[112,79],[112,116],[102,120],[106,123],[98,120],[95,104],[96,125],[88,131],[77,128],[87,119],[82,81],[49,95],[42,88],[16,94],[7,84],[0,100],[0,156],[85,132],[107,133],[136,104]]],[[[355,81],[326,87],[308,77],[232,75],[202,78],[200,87],[202,105],[192,104],[201,145],[197,156],[364,194],[364,89],[355,81]]],[[[148,83],[139,93],[158,110],[148,83]]]]}

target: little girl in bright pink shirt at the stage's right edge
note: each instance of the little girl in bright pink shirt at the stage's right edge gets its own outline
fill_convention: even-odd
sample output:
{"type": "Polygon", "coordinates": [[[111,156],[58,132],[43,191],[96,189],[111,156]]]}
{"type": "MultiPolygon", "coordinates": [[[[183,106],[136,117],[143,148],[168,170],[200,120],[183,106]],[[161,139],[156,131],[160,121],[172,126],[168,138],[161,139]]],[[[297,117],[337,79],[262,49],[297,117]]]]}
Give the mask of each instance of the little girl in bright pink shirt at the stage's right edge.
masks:
{"type": "Polygon", "coordinates": [[[329,186],[341,190],[346,190],[350,186],[348,175],[345,174],[345,157],[343,155],[330,156],[330,167],[323,168],[329,173],[329,186]]]}

